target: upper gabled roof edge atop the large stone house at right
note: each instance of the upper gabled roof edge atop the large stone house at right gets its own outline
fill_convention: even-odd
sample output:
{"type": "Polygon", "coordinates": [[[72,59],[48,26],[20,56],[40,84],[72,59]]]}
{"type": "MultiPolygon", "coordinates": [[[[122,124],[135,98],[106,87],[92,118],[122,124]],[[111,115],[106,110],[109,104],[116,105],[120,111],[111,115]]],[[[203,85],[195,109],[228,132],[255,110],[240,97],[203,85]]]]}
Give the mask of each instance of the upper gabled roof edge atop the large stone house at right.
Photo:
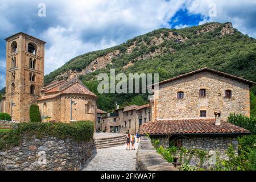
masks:
{"type": "MultiPolygon", "coordinates": [[[[228,74],[228,73],[220,72],[220,71],[217,71],[217,70],[215,70],[215,69],[210,69],[210,68],[207,68],[207,67],[201,68],[201,69],[197,69],[196,71],[189,72],[189,73],[185,73],[185,74],[183,74],[183,75],[179,75],[179,76],[176,76],[176,77],[173,77],[173,78],[164,80],[164,81],[160,81],[158,84],[159,84],[159,85],[160,85],[160,84],[164,84],[164,83],[166,83],[166,82],[174,81],[174,80],[177,80],[177,79],[179,79],[179,78],[186,77],[186,76],[190,76],[190,75],[193,75],[193,74],[195,74],[195,73],[200,73],[200,72],[204,72],[204,71],[216,73],[216,74],[218,74],[218,75],[225,76],[225,77],[234,78],[234,79],[236,79],[236,80],[238,80],[238,81],[245,82],[246,84],[249,84],[250,87],[256,85],[256,83],[253,82],[253,81],[245,80],[245,79],[243,79],[243,78],[241,78],[241,77],[237,77],[237,76],[234,76],[234,75],[230,75],[230,74],[228,74]]],[[[151,87],[151,86],[152,86],[152,88],[154,88],[154,85],[155,85],[155,84],[150,85],[150,86],[148,86],[148,87],[151,87]]]]}

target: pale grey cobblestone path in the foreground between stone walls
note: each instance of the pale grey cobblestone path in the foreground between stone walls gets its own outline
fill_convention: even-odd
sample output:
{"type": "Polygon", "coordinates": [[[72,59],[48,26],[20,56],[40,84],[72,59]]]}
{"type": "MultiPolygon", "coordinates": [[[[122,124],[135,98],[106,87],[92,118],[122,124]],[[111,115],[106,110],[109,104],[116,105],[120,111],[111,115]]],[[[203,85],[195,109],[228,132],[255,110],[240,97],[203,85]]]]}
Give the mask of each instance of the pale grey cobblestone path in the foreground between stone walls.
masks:
{"type": "Polygon", "coordinates": [[[138,143],[135,150],[126,150],[126,145],[94,150],[84,171],[135,171],[138,143]]]}

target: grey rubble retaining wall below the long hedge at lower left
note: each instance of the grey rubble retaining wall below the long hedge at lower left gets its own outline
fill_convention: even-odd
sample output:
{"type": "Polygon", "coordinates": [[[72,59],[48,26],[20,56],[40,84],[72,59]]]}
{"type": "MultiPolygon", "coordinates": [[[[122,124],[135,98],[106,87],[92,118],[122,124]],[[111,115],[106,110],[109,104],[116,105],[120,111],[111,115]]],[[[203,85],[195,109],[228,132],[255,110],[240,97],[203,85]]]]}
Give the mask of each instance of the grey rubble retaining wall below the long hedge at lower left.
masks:
{"type": "Polygon", "coordinates": [[[78,171],[92,155],[94,142],[32,137],[20,146],[0,151],[0,171],[78,171]],[[46,159],[46,160],[44,160],[46,159]]]}

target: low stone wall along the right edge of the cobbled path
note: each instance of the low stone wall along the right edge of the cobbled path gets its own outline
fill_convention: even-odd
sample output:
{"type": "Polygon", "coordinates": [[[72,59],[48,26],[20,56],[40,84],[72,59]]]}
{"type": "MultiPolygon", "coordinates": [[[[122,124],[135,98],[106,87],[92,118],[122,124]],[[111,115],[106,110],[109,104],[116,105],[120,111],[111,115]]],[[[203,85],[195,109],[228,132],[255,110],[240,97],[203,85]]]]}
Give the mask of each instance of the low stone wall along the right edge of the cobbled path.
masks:
{"type": "Polygon", "coordinates": [[[136,169],[138,171],[177,171],[159,155],[148,137],[141,137],[137,151],[136,169]]]}

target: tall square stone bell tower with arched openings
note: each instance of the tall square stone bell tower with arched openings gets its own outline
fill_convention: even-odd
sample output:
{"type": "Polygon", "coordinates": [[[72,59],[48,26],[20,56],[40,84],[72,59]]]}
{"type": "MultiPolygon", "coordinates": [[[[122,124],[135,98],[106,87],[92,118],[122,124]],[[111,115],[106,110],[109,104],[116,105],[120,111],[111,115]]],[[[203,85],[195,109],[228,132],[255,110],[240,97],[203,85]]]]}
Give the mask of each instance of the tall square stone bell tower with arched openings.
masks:
{"type": "Polygon", "coordinates": [[[6,38],[5,111],[13,120],[30,121],[30,105],[44,85],[46,42],[22,32],[6,38]]]}

